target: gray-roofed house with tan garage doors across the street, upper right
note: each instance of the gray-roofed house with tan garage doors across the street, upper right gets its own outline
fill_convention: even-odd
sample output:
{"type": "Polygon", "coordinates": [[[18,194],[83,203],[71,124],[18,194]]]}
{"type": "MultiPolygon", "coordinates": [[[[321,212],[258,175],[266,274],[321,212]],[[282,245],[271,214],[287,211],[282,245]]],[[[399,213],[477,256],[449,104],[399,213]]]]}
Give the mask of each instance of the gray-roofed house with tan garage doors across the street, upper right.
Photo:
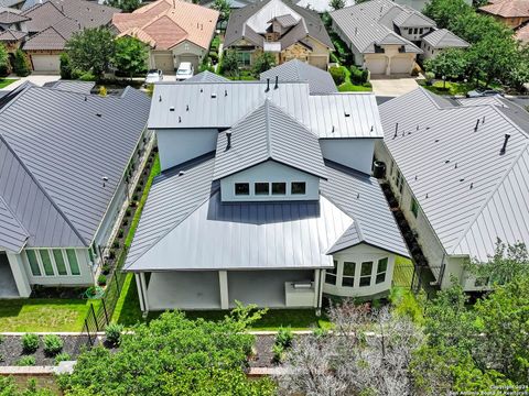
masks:
{"type": "Polygon", "coordinates": [[[411,75],[418,55],[432,57],[443,48],[466,45],[449,31],[438,32],[435,22],[419,11],[391,0],[347,7],[331,12],[331,18],[355,64],[371,75],[411,75]]]}

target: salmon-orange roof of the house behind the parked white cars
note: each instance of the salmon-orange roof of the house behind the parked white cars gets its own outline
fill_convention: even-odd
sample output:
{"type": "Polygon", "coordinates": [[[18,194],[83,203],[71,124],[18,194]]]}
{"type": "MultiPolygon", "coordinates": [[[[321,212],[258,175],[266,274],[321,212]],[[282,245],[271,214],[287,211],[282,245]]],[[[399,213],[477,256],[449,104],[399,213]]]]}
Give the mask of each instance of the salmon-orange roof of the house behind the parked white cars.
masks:
{"type": "Polygon", "coordinates": [[[158,0],[132,13],[115,14],[112,24],[120,35],[130,35],[158,50],[170,50],[187,40],[209,47],[218,11],[177,0],[158,0]]]}

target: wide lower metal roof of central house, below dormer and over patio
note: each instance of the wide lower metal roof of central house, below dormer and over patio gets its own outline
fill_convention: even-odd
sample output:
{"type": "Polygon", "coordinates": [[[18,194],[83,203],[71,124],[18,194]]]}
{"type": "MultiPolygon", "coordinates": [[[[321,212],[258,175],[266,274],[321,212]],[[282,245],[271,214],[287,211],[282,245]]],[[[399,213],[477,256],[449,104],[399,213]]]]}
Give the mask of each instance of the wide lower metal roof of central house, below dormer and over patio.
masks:
{"type": "Polygon", "coordinates": [[[155,180],[127,271],[328,267],[332,248],[358,243],[408,256],[374,178],[327,164],[332,179],[317,202],[223,204],[213,168],[203,157],[155,180]],[[352,229],[357,235],[346,240],[352,229]]]}

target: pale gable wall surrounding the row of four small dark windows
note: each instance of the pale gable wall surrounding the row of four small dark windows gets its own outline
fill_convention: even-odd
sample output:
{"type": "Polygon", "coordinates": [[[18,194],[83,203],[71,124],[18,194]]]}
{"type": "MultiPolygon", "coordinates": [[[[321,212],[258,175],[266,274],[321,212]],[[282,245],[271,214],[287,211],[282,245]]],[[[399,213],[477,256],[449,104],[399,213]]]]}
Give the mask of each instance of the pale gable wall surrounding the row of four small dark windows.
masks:
{"type": "Polygon", "coordinates": [[[294,169],[273,161],[267,161],[235,175],[225,177],[220,180],[220,193],[223,201],[284,201],[284,200],[317,200],[320,197],[320,178],[307,173],[294,169]],[[287,183],[287,195],[256,196],[253,194],[253,183],[287,183]],[[304,195],[291,195],[290,184],[292,182],[305,182],[306,190],[304,195]],[[236,196],[235,184],[249,183],[249,196],[236,196]]]}

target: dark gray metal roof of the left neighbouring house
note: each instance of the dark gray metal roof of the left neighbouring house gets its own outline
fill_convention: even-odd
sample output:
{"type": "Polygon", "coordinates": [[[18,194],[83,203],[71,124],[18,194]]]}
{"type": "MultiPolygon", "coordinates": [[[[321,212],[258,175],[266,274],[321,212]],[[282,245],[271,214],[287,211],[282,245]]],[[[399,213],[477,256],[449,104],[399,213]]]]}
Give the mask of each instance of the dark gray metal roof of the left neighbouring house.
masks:
{"type": "Polygon", "coordinates": [[[0,196],[29,231],[29,246],[91,242],[145,128],[149,101],[132,88],[101,98],[26,86],[10,97],[0,110],[11,153],[1,157],[0,196]]]}

